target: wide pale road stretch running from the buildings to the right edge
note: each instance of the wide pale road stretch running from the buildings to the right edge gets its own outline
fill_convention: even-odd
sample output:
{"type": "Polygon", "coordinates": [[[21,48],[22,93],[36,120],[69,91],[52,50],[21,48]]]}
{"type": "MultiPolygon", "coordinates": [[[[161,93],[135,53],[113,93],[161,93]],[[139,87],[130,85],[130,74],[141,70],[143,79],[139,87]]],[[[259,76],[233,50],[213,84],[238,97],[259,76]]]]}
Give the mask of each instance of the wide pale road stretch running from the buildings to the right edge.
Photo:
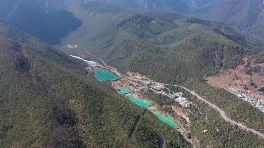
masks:
{"type": "Polygon", "coordinates": [[[194,91],[191,91],[191,90],[189,90],[189,89],[187,89],[185,87],[182,87],[182,88],[184,88],[185,90],[189,91],[192,95],[195,95],[198,99],[204,101],[205,103],[207,103],[208,105],[210,105],[213,109],[215,109],[216,111],[218,111],[220,113],[221,117],[223,117],[225,121],[229,121],[232,124],[236,124],[240,128],[243,128],[243,129],[248,130],[248,131],[252,131],[253,133],[256,133],[260,137],[264,138],[264,135],[261,132],[256,131],[256,130],[254,130],[252,128],[248,128],[246,125],[243,125],[242,123],[238,123],[238,122],[230,119],[227,115],[225,115],[224,111],[222,111],[221,109],[219,109],[216,105],[214,105],[214,104],[210,103],[209,101],[205,100],[201,96],[197,95],[194,91]]]}

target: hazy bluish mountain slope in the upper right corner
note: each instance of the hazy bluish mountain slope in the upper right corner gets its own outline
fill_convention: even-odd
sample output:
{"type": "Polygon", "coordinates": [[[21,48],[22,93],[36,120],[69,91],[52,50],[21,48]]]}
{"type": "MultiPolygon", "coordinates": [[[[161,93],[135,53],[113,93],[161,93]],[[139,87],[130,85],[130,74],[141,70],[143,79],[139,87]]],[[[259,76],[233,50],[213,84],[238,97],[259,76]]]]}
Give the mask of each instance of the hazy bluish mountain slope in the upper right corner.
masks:
{"type": "Polygon", "coordinates": [[[194,7],[184,15],[214,20],[242,33],[264,38],[263,12],[263,0],[226,0],[194,7]]]}

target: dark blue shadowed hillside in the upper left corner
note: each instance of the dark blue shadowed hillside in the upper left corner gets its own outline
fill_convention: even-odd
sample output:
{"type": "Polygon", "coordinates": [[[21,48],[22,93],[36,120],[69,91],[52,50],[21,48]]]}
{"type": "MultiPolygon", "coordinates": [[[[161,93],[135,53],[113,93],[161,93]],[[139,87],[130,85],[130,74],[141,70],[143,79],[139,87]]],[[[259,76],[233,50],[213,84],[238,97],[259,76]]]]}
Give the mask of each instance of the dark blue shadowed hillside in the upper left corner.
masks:
{"type": "Polygon", "coordinates": [[[40,0],[2,0],[0,7],[0,18],[9,25],[50,44],[60,43],[60,38],[82,25],[65,10],[46,12],[49,8],[40,0]]]}

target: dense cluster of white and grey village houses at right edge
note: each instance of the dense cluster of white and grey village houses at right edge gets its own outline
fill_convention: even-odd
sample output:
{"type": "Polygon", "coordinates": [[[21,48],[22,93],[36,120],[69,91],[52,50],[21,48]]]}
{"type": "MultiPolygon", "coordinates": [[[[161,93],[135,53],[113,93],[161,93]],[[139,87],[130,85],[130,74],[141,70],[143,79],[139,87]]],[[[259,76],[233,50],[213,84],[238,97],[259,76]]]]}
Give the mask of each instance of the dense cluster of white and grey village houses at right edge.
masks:
{"type": "Polygon", "coordinates": [[[238,98],[241,98],[244,101],[247,101],[249,104],[253,105],[254,107],[264,112],[264,100],[263,99],[256,97],[254,95],[247,96],[247,93],[244,93],[244,91],[242,90],[232,89],[230,90],[230,92],[235,94],[238,98]]]}

